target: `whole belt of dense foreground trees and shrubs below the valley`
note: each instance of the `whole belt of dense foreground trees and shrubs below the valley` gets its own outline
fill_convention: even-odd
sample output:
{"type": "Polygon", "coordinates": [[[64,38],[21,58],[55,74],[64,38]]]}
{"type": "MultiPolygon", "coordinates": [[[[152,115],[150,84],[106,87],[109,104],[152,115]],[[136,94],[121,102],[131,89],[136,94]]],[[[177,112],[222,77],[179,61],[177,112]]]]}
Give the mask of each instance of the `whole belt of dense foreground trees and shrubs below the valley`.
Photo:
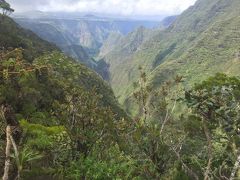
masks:
{"type": "MultiPolygon", "coordinates": [[[[95,73],[59,52],[29,64],[21,49],[2,51],[0,67],[1,147],[9,136],[13,145],[10,178],[221,179],[237,175],[238,78],[217,74],[184,93],[178,76],[153,93],[140,69],[134,97],[141,114],[130,119],[95,73]],[[180,104],[187,108],[175,116],[180,104]]],[[[4,160],[2,156],[1,167],[4,160]]]]}

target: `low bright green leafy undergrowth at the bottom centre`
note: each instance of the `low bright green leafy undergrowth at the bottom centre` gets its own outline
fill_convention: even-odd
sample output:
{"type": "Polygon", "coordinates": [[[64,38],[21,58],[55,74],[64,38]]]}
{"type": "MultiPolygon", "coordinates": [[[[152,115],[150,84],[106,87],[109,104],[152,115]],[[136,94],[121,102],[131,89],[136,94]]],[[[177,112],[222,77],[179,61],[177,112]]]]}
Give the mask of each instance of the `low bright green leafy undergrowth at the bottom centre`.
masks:
{"type": "Polygon", "coordinates": [[[121,152],[117,145],[105,152],[107,159],[98,154],[80,158],[65,169],[65,177],[69,179],[140,179],[138,164],[130,156],[121,152]]]}

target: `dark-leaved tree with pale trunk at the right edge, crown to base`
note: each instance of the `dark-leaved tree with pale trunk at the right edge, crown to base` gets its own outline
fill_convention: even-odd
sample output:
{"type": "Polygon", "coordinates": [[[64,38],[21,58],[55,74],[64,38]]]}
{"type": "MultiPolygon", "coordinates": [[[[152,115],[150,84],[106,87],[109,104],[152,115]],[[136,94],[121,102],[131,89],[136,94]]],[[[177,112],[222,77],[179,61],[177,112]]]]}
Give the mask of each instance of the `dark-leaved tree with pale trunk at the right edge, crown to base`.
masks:
{"type": "Polygon", "coordinates": [[[226,176],[233,179],[239,169],[239,89],[238,78],[216,74],[185,94],[187,105],[201,121],[206,137],[208,156],[199,158],[205,162],[204,179],[226,176]]]}

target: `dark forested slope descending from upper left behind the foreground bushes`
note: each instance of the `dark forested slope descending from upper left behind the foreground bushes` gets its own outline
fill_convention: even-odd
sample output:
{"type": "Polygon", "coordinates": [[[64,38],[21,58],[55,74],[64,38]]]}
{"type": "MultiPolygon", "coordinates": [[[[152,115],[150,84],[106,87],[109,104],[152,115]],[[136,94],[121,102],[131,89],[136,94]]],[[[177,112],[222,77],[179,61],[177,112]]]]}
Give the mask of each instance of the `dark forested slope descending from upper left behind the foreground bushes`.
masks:
{"type": "MultiPolygon", "coordinates": [[[[104,80],[102,80],[102,78],[97,73],[76,62],[72,58],[64,56],[56,46],[45,40],[42,40],[33,32],[21,28],[11,18],[6,16],[2,17],[2,15],[0,15],[0,19],[1,51],[14,51],[13,49],[15,48],[22,48],[24,60],[32,63],[33,61],[36,61],[36,59],[45,59],[47,61],[45,62],[45,65],[50,65],[53,67],[59,66],[59,68],[62,68],[61,71],[58,69],[58,71],[60,71],[58,74],[62,73],[62,75],[64,74],[64,68],[68,67],[70,68],[69,71],[73,71],[73,69],[71,69],[71,66],[78,67],[78,70],[76,72],[71,72],[71,76],[74,76],[74,73],[76,73],[75,76],[79,78],[78,83],[81,84],[80,86],[85,88],[87,91],[96,88],[97,94],[103,97],[102,99],[104,101],[104,106],[113,107],[113,109],[116,110],[114,110],[114,113],[116,115],[119,113],[124,114],[124,112],[118,106],[118,102],[114,97],[111,87],[109,87],[109,85],[104,82],[104,80]],[[56,61],[56,64],[54,64],[54,61],[56,61]]],[[[79,47],[72,48],[78,49],[79,47]]],[[[81,51],[81,47],[79,50],[81,51]]],[[[88,56],[85,54],[81,56],[88,58],[88,56]]]]}

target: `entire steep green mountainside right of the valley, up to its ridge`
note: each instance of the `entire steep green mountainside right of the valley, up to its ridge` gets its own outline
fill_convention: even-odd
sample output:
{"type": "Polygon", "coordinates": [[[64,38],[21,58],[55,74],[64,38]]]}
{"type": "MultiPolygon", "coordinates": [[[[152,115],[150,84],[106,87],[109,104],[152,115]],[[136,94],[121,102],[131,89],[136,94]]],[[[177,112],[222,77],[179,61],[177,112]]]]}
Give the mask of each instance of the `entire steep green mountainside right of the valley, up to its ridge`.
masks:
{"type": "Polygon", "coordinates": [[[239,75],[239,16],[238,0],[198,0],[135,51],[114,48],[103,57],[110,64],[114,92],[122,103],[131,96],[140,65],[155,88],[177,74],[186,85],[216,72],[239,75]]]}

